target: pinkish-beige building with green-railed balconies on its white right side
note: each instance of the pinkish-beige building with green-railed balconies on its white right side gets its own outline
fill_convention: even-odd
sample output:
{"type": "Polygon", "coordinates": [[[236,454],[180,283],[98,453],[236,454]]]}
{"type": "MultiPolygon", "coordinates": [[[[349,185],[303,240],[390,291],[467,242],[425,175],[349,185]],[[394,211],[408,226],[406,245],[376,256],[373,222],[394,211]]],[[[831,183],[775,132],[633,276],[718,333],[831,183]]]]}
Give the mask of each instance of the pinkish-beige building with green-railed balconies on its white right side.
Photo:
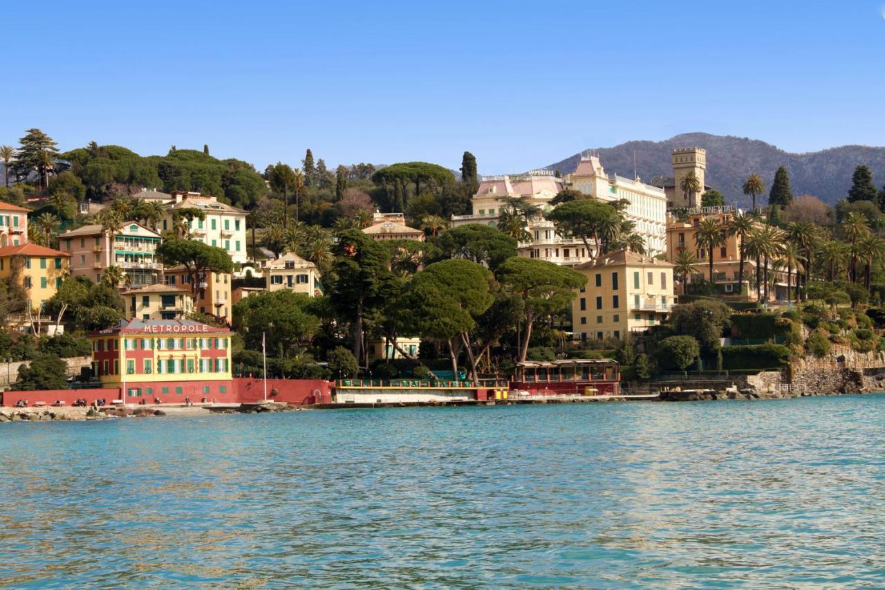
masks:
{"type": "Polygon", "coordinates": [[[71,275],[87,276],[99,283],[108,267],[119,267],[126,283],[134,286],[156,284],[163,273],[157,246],[163,237],[136,221],[127,221],[109,234],[92,224],[65,231],[59,247],[71,255],[71,275]]]}

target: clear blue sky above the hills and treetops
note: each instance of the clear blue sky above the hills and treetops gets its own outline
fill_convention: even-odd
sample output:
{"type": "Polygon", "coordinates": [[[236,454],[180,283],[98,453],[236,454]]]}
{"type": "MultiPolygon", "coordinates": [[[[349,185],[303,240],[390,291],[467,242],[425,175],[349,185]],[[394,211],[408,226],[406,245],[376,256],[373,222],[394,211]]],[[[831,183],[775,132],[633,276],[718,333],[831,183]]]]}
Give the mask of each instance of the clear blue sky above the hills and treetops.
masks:
{"type": "Polygon", "coordinates": [[[17,0],[0,144],[485,174],[689,131],[881,145],[882,2],[17,0]]]}

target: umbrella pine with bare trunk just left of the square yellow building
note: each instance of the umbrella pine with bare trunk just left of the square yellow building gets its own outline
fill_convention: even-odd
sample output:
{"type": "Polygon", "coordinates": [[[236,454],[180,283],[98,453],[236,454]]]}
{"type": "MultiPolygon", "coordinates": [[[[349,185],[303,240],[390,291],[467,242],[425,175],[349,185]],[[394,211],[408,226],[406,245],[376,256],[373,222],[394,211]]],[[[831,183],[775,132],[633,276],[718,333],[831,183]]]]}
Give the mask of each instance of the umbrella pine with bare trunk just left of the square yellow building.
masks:
{"type": "Polygon", "coordinates": [[[566,307],[587,284],[587,276],[573,268],[560,267],[546,260],[514,256],[497,269],[498,280],[523,300],[523,339],[519,361],[526,360],[532,326],[538,318],[566,307]]]}

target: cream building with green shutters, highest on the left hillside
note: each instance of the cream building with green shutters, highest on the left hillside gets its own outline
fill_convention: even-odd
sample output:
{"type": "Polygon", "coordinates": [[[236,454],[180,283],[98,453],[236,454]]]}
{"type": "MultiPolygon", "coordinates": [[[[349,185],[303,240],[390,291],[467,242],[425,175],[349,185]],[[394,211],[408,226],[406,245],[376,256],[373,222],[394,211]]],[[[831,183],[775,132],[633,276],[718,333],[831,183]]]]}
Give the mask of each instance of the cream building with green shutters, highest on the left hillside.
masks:
{"type": "MultiPolygon", "coordinates": [[[[141,194],[141,193],[139,193],[141,194]]],[[[163,195],[164,193],[157,193],[163,195]]],[[[242,209],[219,202],[217,198],[198,192],[173,190],[161,221],[163,230],[173,229],[174,213],[199,209],[205,219],[190,221],[191,239],[225,250],[235,262],[246,261],[246,213],[242,209]]],[[[158,198],[158,197],[154,197],[158,198]]]]}

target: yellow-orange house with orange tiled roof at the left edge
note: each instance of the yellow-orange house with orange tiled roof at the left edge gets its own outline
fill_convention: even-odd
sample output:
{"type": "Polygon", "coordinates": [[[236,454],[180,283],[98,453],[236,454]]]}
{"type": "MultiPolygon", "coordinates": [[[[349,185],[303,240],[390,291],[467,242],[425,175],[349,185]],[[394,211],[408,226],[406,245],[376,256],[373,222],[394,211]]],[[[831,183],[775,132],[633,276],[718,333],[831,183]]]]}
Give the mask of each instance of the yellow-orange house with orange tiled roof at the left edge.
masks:
{"type": "Polygon", "coordinates": [[[16,279],[27,292],[31,310],[39,312],[69,272],[71,255],[36,244],[0,248],[0,279],[16,279]]]}

